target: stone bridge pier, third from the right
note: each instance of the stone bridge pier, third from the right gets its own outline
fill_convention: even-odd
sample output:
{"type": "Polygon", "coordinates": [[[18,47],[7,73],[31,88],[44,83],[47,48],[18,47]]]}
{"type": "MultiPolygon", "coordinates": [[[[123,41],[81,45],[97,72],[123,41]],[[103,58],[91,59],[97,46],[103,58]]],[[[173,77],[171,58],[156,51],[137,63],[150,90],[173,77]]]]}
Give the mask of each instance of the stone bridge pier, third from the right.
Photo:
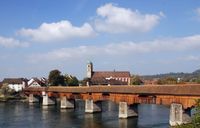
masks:
{"type": "Polygon", "coordinates": [[[94,113],[94,112],[101,112],[101,107],[95,103],[91,99],[85,100],[85,112],[86,113],[94,113]]]}

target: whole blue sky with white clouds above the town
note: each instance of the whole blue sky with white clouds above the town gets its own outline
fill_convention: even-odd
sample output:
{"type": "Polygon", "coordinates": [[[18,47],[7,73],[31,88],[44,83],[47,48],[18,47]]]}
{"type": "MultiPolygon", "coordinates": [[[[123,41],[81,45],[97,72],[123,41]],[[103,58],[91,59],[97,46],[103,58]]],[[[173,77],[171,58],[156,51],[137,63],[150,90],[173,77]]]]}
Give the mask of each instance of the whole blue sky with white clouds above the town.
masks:
{"type": "Polygon", "coordinates": [[[0,79],[200,68],[198,0],[1,0],[0,79]]]}

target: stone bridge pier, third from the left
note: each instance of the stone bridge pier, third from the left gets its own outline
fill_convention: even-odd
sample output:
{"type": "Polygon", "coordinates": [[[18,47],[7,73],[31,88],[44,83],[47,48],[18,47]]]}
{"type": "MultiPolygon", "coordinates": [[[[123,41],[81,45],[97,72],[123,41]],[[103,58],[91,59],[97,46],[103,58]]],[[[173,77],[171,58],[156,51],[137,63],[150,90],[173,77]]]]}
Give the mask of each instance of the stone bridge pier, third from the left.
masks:
{"type": "Polygon", "coordinates": [[[61,97],[60,108],[74,108],[74,100],[68,100],[66,97],[61,97]]]}

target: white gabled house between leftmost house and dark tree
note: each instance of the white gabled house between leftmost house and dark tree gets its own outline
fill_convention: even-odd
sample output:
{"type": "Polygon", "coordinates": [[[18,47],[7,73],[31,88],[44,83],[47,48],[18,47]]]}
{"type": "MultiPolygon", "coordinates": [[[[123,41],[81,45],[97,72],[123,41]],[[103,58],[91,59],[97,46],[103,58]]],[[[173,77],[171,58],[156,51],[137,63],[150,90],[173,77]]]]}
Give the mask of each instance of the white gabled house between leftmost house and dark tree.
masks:
{"type": "Polygon", "coordinates": [[[45,78],[32,78],[28,81],[28,86],[27,87],[41,87],[41,86],[46,86],[47,85],[47,80],[45,78]]]}

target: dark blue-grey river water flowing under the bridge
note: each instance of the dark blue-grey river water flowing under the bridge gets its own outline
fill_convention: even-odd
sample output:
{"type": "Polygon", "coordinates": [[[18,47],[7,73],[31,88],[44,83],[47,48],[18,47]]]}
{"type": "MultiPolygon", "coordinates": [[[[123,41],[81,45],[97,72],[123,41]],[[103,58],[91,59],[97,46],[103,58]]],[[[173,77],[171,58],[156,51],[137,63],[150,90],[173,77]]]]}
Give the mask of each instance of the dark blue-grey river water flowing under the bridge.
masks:
{"type": "Polygon", "coordinates": [[[118,119],[118,105],[102,102],[102,112],[84,113],[84,101],[75,109],[39,103],[0,103],[0,128],[168,128],[169,107],[139,105],[138,118],[118,119]]]}

